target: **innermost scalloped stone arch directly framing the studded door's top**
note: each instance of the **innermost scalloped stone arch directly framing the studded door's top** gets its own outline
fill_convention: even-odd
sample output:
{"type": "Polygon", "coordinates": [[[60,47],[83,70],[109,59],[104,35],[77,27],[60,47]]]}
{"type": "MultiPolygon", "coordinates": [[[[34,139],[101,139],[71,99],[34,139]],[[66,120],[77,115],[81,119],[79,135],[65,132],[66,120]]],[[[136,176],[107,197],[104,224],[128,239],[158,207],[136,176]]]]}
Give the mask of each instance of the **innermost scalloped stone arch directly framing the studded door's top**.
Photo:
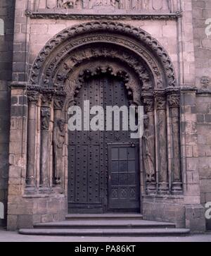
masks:
{"type": "MultiPolygon", "coordinates": [[[[66,62],[63,64],[68,66],[66,62]]],[[[71,68],[71,71],[68,69],[68,73],[57,71],[53,85],[56,91],[60,91],[60,88],[65,85],[63,90],[67,93],[68,100],[74,101],[74,97],[82,87],[84,79],[100,73],[107,73],[120,78],[132,99],[132,104],[136,106],[141,105],[141,91],[144,88],[153,93],[153,78],[146,69],[141,66],[139,72],[135,72],[132,66],[125,65],[125,61],[118,58],[88,58],[86,61],[78,61],[77,65],[71,68]]]]}

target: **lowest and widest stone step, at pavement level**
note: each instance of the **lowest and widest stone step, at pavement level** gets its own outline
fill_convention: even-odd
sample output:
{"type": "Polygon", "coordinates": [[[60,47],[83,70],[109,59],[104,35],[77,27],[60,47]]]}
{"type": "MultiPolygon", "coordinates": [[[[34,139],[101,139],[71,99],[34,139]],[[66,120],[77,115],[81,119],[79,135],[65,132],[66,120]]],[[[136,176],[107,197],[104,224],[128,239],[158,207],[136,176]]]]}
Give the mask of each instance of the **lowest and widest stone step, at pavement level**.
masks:
{"type": "Polygon", "coordinates": [[[185,228],[31,228],[20,229],[22,235],[32,236],[187,236],[190,231],[185,228]]]}

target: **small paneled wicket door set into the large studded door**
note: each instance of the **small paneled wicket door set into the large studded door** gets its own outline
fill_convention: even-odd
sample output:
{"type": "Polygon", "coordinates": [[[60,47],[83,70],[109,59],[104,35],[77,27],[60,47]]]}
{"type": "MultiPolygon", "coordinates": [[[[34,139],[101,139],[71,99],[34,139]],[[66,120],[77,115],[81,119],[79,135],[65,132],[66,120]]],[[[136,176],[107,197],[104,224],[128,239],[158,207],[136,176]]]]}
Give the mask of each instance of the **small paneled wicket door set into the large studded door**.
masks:
{"type": "Polygon", "coordinates": [[[109,145],[108,211],[139,212],[139,145],[109,145]]]}

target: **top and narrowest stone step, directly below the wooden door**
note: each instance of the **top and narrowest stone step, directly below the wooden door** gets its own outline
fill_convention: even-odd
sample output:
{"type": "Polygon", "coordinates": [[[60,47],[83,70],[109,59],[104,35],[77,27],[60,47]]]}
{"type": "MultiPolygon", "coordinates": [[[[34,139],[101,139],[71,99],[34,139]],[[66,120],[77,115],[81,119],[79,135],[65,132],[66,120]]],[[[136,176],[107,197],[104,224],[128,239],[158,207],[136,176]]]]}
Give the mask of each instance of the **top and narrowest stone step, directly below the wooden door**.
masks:
{"type": "Polygon", "coordinates": [[[81,219],[143,219],[141,214],[67,214],[67,220],[81,219]]]}

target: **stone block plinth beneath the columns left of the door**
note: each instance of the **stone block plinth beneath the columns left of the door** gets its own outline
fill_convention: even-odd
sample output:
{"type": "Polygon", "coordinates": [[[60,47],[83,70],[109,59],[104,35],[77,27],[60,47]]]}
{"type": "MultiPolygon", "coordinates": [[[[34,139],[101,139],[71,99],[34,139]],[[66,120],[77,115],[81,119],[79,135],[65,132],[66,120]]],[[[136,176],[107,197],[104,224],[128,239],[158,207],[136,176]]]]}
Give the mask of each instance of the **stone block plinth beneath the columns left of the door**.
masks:
{"type": "Polygon", "coordinates": [[[27,195],[19,202],[8,202],[8,231],[63,221],[68,213],[66,201],[65,195],[27,195]]]}

